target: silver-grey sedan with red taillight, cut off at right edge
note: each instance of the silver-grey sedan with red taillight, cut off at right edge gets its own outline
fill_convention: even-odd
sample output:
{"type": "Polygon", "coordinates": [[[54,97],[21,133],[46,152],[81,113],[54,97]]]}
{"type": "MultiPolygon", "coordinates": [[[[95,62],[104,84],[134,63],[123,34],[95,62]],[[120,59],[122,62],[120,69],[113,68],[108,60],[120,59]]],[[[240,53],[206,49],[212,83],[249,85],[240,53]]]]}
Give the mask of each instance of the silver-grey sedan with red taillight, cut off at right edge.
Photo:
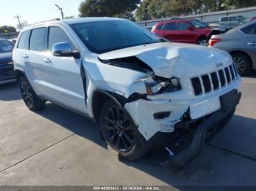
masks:
{"type": "Polygon", "coordinates": [[[256,20],[211,36],[209,45],[230,52],[239,74],[246,76],[256,69],[256,20]]]}

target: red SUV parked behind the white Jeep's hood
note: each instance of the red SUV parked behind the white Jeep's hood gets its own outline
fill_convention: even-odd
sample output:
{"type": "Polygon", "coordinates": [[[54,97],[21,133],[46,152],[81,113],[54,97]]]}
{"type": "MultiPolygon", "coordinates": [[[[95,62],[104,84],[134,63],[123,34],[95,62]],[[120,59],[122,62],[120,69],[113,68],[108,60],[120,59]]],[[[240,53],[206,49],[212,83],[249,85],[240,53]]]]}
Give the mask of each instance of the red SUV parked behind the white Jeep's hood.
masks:
{"type": "Polygon", "coordinates": [[[171,42],[207,45],[211,27],[199,20],[176,19],[157,23],[152,32],[171,42]]]}

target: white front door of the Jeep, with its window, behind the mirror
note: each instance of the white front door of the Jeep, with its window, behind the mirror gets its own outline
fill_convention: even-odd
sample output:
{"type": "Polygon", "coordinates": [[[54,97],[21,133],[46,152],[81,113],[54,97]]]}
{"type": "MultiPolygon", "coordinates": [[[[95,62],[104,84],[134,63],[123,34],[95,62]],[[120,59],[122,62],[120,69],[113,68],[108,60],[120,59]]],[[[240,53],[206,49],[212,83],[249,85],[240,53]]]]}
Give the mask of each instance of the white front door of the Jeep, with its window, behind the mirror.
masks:
{"type": "Polygon", "coordinates": [[[72,36],[63,26],[49,26],[47,39],[48,54],[44,55],[44,84],[48,87],[48,97],[60,104],[80,112],[86,112],[86,98],[81,77],[82,58],[56,57],[52,54],[53,44],[69,42],[73,50],[78,50],[72,36]]]}

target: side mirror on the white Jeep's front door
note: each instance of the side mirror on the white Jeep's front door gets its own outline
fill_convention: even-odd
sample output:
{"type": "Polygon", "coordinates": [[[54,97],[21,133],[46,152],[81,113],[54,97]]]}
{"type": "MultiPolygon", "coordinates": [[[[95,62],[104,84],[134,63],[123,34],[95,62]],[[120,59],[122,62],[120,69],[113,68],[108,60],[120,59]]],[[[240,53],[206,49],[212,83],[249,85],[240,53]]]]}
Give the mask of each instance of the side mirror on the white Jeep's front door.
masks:
{"type": "Polygon", "coordinates": [[[80,58],[80,52],[78,50],[72,50],[69,42],[53,44],[52,52],[54,56],[80,58]]]}

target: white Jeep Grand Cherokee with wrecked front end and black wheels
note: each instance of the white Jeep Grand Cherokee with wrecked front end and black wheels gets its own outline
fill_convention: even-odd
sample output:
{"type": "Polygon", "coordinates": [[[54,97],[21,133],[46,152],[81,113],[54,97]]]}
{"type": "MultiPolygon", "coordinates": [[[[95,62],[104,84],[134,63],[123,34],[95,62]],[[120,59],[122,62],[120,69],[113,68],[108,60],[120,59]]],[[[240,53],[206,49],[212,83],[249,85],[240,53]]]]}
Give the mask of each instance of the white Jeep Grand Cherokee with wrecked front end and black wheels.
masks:
{"type": "Polygon", "coordinates": [[[167,42],[123,19],[29,26],[20,32],[13,61],[29,109],[51,101],[87,115],[129,159],[163,144],[170,163],[185,165],[241,98],[241,77],[227,52],[167,42]]]}

